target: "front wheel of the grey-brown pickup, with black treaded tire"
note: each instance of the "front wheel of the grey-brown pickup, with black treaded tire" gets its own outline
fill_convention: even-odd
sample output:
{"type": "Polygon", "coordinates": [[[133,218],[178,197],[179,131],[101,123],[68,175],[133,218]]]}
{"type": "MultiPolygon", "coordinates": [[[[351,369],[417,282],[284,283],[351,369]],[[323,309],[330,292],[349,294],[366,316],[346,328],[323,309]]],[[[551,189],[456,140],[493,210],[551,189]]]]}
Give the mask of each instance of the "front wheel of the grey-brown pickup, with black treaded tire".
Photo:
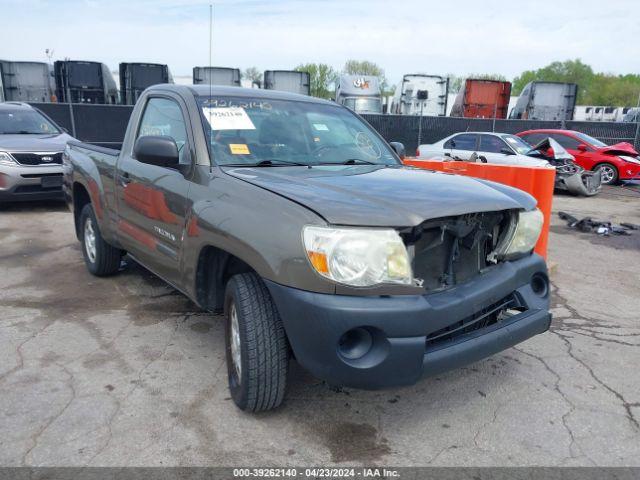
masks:
{"type": "Polygon", "coordinates": [[[231,398],[246,412],[276,408],[287,386],[289,343],[278,310],[258,275],[231,277],[224,314],[231,398]]]}

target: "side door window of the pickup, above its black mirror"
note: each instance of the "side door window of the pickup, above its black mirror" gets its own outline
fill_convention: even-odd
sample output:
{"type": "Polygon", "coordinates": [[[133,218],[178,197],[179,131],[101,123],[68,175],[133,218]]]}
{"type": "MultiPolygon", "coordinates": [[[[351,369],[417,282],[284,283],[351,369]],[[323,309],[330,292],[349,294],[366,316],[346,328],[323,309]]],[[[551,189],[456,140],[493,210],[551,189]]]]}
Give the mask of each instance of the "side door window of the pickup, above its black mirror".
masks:
{"type": "Polygon", "coordinates": [[[186,155],[187,128],[180,106],[168,98],[151,98],[144,109],[138,137],[166,135],[175,140],[180,153],[180,164],[189,163],[186,155]]]}

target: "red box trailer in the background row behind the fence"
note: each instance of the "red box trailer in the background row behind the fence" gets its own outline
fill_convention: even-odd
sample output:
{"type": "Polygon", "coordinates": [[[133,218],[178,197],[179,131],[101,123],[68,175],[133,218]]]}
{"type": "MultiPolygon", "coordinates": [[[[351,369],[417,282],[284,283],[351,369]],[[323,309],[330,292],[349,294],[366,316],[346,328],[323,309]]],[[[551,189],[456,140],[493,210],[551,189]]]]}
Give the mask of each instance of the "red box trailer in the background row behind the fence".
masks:
{"type": "Polygon", "coordinates": [[[468,78],[458,92],[450,116],[507,118],[511,82],[468,78]]]}

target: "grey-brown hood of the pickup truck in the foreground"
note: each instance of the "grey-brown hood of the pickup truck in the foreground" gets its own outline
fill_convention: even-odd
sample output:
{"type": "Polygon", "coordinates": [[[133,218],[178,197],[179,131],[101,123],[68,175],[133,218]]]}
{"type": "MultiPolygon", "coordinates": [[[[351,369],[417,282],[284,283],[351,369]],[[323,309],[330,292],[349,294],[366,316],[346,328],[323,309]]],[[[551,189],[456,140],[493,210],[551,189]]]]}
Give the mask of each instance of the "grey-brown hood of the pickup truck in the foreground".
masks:
{"type": "Polygon", "coordinates": [[[413,227],[432,218],[532,209],[528,193],[493,182],[410,167],[339,165],[224,168],[299,203],[335,225],[413,227]]]}

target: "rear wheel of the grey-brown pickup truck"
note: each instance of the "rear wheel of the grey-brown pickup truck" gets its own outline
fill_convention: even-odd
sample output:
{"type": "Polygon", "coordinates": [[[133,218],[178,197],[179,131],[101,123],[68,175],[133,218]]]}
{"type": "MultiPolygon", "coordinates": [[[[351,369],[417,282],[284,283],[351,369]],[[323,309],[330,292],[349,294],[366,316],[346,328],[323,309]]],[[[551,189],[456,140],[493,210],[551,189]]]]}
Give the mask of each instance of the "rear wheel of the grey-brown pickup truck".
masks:
{"type": "Polygon", "coordinates": [[[106,277],[120,269],[122,250],[104,241],[90,203],[80,212],[80,243],[84,263],[93,275],[106,277]]]}

